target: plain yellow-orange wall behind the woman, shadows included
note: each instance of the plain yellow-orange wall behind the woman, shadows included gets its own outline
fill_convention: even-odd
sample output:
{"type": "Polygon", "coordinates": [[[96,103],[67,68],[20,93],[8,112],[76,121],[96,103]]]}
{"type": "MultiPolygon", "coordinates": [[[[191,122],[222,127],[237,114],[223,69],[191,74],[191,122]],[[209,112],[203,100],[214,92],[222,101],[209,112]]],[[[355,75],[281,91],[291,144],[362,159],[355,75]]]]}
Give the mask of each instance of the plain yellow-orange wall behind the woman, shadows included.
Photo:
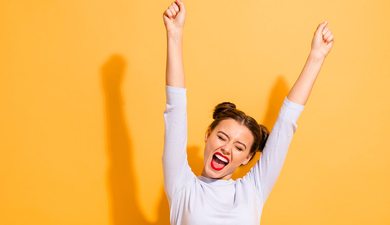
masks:
{"type": "MultiPolygon", "coordinates": [[[[0,2],[0,224],[169,224],[162,15],[171,3],[0,2]]],[[[389,224],[389,1],[185,4],[194,172],[217,103],[271,128],[327,19],[335,45],[261,224],[389,224]]]]}

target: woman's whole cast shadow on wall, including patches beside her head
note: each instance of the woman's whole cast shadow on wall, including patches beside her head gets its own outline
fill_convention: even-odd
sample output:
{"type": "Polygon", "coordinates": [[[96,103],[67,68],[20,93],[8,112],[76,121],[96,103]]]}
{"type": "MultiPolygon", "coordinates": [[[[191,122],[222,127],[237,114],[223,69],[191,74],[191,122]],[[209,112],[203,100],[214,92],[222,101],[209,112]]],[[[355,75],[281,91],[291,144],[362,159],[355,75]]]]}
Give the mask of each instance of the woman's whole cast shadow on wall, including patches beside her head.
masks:
{"type": "MultiPolygon", "coordinates": [[[[169,225],[169,205],[161,187],[159,199],[159,215],[155,223],[149,222],[140,210],[137,200],[138,190],[132,161],[133,147],[130,130],[125,120],[122,82],[125,75],[126,62],[121,55],[112,55],[101,68],[101,81],[104,94],[104,118],[107,153],[107,193],[110,223],[119,224],[155,224],[169,225]]],[[[267,113],[262,124],[272,129],[277,119],[280,106],[288,93],[287,84],[279,76],[270,93],[267,113]]],[[[187,147],[188,164],[197,176],[203,169],[203,158],[199,157],[199,146],[187,147]]],[[[203,151],[203,150],[202,150],[203,151]]],[[[259,160],[260,154],[246,166],[240,167],[232,178],[244,176],[259,160]]]]}

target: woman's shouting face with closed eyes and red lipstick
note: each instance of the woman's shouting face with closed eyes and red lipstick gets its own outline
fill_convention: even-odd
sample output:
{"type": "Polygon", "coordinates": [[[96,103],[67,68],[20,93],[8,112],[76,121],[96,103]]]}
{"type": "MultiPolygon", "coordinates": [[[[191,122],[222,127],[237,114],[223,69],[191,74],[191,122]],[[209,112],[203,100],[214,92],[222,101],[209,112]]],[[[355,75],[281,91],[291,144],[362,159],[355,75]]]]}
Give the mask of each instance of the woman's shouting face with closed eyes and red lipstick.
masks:
{"type": "Polygon", "coordinates": [[[236,120],[221,121],[205,137],[204,168],[202,176],[214,179],[230,179],[233,172],[250,160],[253,135],[236,120]]]}

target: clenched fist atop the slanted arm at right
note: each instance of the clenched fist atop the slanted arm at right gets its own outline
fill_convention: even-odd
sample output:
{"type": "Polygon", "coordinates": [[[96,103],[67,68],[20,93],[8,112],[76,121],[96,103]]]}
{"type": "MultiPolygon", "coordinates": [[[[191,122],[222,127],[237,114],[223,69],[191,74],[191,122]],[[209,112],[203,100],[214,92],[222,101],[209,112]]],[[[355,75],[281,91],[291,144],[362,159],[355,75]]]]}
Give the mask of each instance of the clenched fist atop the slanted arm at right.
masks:
{"type": "Polygon", "coordinates": [[[318,25],[314,32],[313,41],[311,41],[311,52],[320,56],[326,57],[333,47],[335,38],[329,27],[326,25],[328,21],[325,20],[318,25]]]}

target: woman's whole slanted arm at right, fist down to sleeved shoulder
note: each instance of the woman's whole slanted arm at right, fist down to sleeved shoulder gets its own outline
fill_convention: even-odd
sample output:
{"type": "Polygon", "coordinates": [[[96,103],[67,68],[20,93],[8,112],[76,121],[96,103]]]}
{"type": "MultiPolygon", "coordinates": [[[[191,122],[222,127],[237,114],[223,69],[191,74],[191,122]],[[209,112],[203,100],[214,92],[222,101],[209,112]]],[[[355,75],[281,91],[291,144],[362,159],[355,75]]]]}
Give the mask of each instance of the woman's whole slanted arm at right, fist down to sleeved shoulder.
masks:
{"type": "Polygon", "coordinates": [[[326,24],[327,21],[322,22],[314,33],[309,57],[297,82],[283,101],[259,162],[243,177],[244,182],[255,185],[263,203],[279,177],[288,147],[298,127],[296,122],[305,107],[325,57],[333,46],[333,35],[326,24]]]}

